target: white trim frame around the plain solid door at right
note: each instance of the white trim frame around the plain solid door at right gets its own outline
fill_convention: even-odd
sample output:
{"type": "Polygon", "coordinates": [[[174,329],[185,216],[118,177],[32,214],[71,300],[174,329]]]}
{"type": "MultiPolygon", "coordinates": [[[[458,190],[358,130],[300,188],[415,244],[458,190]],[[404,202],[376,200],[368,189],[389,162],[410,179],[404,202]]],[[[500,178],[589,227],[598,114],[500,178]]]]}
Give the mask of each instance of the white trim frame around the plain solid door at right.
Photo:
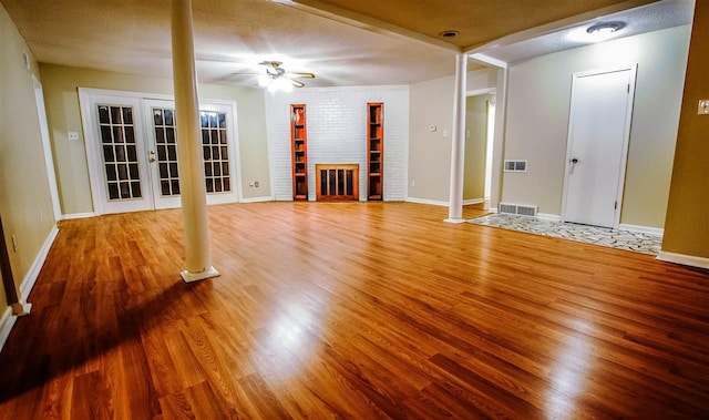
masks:
{"type": "Polygon", "coordinates": [[[562,194],[562,222],[566,222],[566,199],[568,197],[568,177],[572,168],[572,139],[574,135],[574,117],[576,116],[574,112],[574,86],[577,79],[587,78],[598,74],[606,73],[616,73],[621,71],[629,71],[630,76],[628,78],[628,101],[626,104],[626,113],[625,113],[625,127],[623,130],[623,144],[620,146],[620,170],[618,173],[618,185],[616,188],[616,203],[618,206],[615,208],[615,214],[613,216],[613,228],[617,229],[620,226],[620,214],[623,213],[623,194],[625,191],[625,174],[628,163],[628,148],[630,144],[630,129],[633,126],[633,107],[635,104],[635,85],[637,80],[637,63],[631,63],[627,65],[612,66],[612,68],[602,68],[594,69],[583,72],[576,72],[572,74],[572,92],[569,95],[568,103],[568,131],[566,134],[566,162],[564,165],[564,191],[562,194]]]}

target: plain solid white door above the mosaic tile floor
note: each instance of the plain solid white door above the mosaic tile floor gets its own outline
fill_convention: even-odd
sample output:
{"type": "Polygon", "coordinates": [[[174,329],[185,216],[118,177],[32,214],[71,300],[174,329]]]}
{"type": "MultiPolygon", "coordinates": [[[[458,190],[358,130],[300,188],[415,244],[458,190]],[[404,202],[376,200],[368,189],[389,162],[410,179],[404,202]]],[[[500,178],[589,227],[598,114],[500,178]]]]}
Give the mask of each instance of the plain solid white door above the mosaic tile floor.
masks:
{"type": "Polygon", "coordinates": [[[574,74],[562,211],[565,222],[618,226],[635,69],[574,74]]]}

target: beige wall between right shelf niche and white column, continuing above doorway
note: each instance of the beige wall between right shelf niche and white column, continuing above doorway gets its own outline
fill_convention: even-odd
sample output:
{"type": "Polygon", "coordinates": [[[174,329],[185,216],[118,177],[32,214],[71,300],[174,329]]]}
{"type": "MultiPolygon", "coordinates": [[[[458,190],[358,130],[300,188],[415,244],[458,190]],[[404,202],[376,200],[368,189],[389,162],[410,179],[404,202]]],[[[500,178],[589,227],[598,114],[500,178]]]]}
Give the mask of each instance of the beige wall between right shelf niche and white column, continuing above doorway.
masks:
{"type": "MultiPolygon", "coordinates": [[[[451,62],[451,65],[453,63],[451,62]]],[[[467,73],[466,90],[495,88],[497,70],[467,73]]],[[[414,83],[410,89],[409,197],[448,203],[453,131],[453,76],[414,83]],[[435,125],[431,132],[429,126],[435,125]],[[415,184],[415,185],[414,185],[415,184]]]]}

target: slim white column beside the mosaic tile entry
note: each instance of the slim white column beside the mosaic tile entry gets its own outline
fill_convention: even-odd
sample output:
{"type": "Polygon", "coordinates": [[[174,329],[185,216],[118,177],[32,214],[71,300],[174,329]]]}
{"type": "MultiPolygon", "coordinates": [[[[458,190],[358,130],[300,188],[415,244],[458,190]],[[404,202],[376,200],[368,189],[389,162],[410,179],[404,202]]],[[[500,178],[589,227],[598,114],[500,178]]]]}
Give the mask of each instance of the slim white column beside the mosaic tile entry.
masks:
{"type": "Polygon", "coordinates": [[[465,165],[465,76],[467,54],[455,55],[455,101],[453,103],[453,137],[451,145],[451,194],[449,223],[463,223],[463,170],[465,165]]]}

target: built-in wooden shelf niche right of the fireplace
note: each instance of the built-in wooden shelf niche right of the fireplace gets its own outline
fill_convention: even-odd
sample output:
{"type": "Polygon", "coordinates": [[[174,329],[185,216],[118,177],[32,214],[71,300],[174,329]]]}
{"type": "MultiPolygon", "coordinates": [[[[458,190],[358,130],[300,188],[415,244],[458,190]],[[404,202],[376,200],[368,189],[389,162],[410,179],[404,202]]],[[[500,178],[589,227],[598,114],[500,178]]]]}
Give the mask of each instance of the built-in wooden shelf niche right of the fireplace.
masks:
{"type": "Polygon", "coordinates": [[[367,199],[381,201],[384,183],[384,104],[367,103],[367,199]]]}

